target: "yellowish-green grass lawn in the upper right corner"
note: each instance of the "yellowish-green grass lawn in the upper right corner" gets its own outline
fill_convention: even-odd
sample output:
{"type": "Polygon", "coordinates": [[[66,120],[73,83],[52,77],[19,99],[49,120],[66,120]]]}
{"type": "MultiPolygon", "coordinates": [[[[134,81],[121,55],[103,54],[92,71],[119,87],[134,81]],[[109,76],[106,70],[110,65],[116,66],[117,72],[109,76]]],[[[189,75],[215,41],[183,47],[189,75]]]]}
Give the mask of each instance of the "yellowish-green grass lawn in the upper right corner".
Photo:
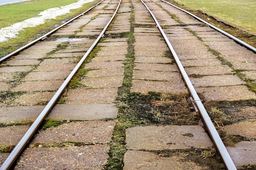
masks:
{"type": "Polygon", "coordinates": [[[191,10],[200,10],[256,34],[255,0],[175,0],[191,10]]]}

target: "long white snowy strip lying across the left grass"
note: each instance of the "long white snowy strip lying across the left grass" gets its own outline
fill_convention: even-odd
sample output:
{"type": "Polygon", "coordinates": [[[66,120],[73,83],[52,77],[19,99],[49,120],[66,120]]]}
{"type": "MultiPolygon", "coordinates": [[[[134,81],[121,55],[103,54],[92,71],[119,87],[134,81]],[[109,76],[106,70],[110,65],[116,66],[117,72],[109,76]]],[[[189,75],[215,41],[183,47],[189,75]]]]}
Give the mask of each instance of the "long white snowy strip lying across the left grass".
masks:
{"type": "Polygon", "coordinates": [[[39,24],[43,24],[47,19],[55,19],[59,15],[65,15],[66,13],[70,13],[71,9],[77,9],[83,6],[83,4],[92,2],[94,0],[79,0],[76,3],[69,4],[63,7],[50,8],[43,12],[40,12],[39,17],[29,18],[22,22],[18,22],[8,27],[4,27],[0,29],[0,42],[5,42],[10,38],[15,38],[19,34],[19,31],[22,31],[27,27],[34,27],[39,24]]]}

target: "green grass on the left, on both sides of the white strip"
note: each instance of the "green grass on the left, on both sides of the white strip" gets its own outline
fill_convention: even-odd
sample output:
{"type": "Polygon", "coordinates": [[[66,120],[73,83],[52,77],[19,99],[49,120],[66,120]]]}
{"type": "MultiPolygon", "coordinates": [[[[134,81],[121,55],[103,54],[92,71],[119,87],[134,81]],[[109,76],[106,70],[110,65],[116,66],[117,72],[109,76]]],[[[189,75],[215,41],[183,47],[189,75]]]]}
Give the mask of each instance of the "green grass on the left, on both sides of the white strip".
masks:
{"type": "MultiPolygon", "coordinates": [[[[78,0],[31,0],[0,6],[0,29],[32,17],[38,17],[38,14],[46,9],[65,6],[77,1],[78,0]]],[[[54,29],[56,25],[61,25],[61,21],[79,15],[97,2],[99,2],[99,0],[84,4],[83,7],[79,9],[71,10],[72,13],[58,16],[56,19],[49,20],[49,22],[46,22],[45,24],[24,29],[24,31],[19,33],[17,38],[12,38],[7,42],[0,42],[0,57],[13,52],[28,42],[44,35],[47,31],[54,29]]]]}

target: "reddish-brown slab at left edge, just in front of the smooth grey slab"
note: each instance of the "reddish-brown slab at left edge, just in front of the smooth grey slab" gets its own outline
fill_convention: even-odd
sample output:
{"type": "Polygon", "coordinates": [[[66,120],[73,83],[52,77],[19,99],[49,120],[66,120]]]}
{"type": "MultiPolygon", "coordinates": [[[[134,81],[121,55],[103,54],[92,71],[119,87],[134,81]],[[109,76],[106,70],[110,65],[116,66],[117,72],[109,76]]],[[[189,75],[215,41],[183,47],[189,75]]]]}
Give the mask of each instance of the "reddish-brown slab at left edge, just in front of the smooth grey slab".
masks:
{"type": "Polygon", "coordinates": [[[29,127],[29,125],[1,127],[0,144],[16,146],[29,127]]]}

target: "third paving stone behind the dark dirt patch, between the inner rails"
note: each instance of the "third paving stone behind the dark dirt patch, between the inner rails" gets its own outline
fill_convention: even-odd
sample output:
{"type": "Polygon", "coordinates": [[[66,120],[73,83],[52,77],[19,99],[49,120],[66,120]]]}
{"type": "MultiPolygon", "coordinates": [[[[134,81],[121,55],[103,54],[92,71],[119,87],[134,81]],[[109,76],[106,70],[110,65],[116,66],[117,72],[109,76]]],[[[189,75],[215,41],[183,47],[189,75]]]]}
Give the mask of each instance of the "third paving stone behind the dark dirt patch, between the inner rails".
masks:
{"type": "Polygon", "coordinates": [[[157,63],[135,63],[134,69],[145,70],[145,71],[163,71],[163,72],[179,71],[176,65],[157,64],[157,63]]]}

